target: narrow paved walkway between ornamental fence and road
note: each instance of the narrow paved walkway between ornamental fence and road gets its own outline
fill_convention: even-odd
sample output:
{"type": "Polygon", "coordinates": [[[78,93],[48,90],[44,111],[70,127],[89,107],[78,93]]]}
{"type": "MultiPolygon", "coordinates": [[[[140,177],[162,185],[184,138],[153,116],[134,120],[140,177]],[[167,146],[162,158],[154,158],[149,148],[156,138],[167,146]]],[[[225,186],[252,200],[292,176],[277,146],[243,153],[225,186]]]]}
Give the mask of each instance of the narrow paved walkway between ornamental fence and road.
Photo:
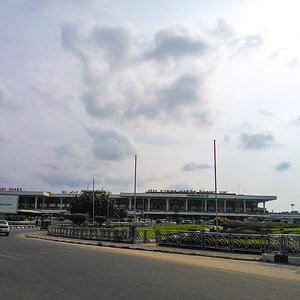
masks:
{"type": "Polygon", "coordinates": [[[139,244],[128,244],[128,243],[116,243],[116,242],[106,242],[106,241],[93,241],[93,240],[81,240],[74,238],[65,238],[58,236],[48,235],[47,231],[31,231],[25,234],[28,238],[37,238],[55,242],[91,245],[91,246],[102,246],[111,248],[123,248],[139,251],[153,251],[153,252],[164,252],[172,254],[185,254],[185,255],[195,255],[195,256],[207,256],[215,258],[224,259],[235,259],[235,260],[248,260],[248,261],[260,261],[261,255],[248,254],[248,253],[230,253],[221,251],[205,251],[197,249],[184,249],[184,248],[174,248],[174,247],[162,247],[157,246],[155,243],[139,243],[139,244]]]}

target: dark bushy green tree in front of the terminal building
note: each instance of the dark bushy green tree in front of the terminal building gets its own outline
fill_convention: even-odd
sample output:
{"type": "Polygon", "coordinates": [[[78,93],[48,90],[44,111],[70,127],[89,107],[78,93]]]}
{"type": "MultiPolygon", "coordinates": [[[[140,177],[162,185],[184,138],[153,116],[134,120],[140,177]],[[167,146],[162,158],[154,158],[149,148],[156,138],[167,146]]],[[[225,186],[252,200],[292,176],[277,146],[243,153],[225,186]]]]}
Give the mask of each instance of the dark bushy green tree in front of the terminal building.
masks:
{"type": "MultiPolygon", "coordinates": [[[[109,198],[105,191],[95,191],[94,193],[95,216],[108,216],[109,218],[125,218],[127,216],[124,208],[117,205],[115,200],[109,198]],[[108,212],[109,211],[109,212],[108,212]]],[[[82,193],[71,200],[71,213],[93,215],[93,193],[91,191],[82,191],[82,193]]]]}

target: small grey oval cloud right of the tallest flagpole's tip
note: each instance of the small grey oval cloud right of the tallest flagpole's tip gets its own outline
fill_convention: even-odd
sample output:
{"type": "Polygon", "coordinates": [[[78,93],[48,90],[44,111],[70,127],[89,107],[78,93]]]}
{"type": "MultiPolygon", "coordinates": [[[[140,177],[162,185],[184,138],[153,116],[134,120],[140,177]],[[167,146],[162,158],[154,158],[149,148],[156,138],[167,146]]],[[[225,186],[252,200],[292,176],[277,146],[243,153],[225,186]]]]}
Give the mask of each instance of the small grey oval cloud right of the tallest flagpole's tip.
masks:
{"type": "Polygon", "coordinates": [[[249,150],[261,150],[272,146],[274,137],[271,133],[242,133],[239,137],[242,147],[249,150]]]}

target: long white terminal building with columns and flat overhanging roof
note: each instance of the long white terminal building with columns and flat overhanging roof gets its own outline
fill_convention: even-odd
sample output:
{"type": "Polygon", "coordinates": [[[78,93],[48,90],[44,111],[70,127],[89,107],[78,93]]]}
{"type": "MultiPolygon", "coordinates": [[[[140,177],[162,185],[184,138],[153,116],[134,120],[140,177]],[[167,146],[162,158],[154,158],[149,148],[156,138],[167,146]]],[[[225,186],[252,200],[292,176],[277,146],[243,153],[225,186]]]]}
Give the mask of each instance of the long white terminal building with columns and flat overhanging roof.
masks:
{"type": "MultiPolygon", "coordinates": [[[[68,213],[70,201],[76,194],[2,189],[0,213],[1,197],[7,198],[10,195],[17,196],[16,213],[68,213]]],[[[134,214],[133,193],[110,194],[110,199],[124,207],[129,216],[134,214]]],[[[217,199],[220,216],[246,217],[266,213],[266,202],[276,200],[277,197],[219,192],[217,199]]],[[[137,216],[143,215],[153,219],[168,216],[205,217],[213,216],[215,211],[215,194],[210,191],[148,190],[145,193],[136,193],[137,216]]]]}

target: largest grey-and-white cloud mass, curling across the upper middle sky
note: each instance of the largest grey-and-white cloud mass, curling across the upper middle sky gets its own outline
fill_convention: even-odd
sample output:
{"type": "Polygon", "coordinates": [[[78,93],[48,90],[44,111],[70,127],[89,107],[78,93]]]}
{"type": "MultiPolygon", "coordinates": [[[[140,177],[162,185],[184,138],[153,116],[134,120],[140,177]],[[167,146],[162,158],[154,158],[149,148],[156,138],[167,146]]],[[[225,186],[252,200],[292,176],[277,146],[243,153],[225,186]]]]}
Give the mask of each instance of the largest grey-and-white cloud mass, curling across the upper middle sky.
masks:
{"type": "Polygon", "coordinates": [[[211,124],[209,109],[204,107],[205,75],[179,62],[181,57],[205,55],[208,46],[187,30],[159,31],[155,47],[147,51],[149,41],[122,26],[83,32],[79,26],[65,24],[61,39],[64,48],[82,62],[85,91],[81,101],[91,116],[123,124],[128,120],[211,124]],[[160,60],[167,57],[176,60],[161,70],[160,60]]]}

